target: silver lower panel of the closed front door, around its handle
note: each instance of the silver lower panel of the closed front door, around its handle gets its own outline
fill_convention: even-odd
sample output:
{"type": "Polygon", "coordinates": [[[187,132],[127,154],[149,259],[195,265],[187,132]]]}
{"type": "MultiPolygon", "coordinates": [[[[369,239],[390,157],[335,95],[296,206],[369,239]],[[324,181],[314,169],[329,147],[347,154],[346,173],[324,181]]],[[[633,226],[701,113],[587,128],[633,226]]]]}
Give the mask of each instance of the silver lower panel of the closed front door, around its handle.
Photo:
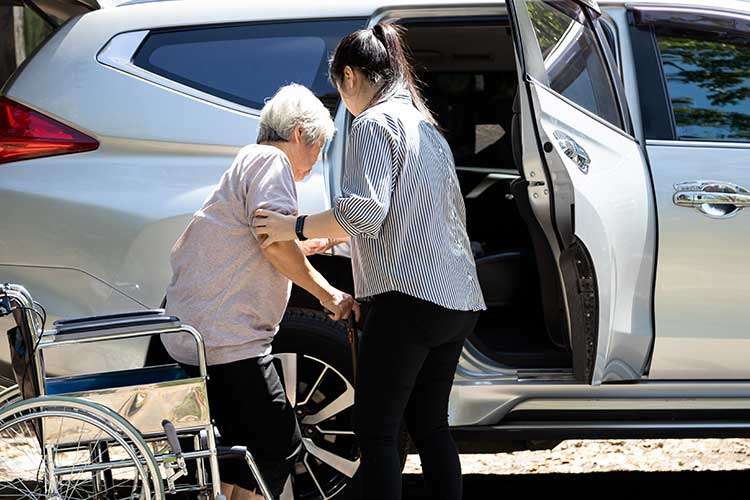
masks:
{"type": "Polygon", "coordinates": [[[647,147],[660,219],[650,377],[750,379],[750,212],[714,219],[673,201],[675,184],[685,181],[750,188],[750,144],[649,141],[647,147]]]}

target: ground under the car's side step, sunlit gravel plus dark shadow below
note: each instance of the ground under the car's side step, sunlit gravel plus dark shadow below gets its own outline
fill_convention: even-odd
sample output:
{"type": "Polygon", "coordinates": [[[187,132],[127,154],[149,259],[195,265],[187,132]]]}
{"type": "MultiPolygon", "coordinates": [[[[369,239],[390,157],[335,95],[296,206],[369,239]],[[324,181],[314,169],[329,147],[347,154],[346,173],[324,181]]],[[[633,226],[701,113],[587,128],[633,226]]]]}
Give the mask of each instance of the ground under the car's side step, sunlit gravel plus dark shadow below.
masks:
{"type": "MultiPolygon", "coordinates": [[[[464,500],[750,497],[750,439],[566,441],[554,450],[462,455],[464,500]]],[[[410,455],[404,499],[428,500],[410,455]]]]}

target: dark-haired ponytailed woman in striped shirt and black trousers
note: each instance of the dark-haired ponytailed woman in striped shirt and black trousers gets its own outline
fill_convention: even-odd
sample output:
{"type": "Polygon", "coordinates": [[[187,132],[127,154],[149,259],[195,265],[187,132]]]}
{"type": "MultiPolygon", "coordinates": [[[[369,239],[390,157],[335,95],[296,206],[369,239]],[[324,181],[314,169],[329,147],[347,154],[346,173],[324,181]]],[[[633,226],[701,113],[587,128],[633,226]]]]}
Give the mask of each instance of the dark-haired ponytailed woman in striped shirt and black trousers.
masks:
{"type": "Polygon", "coordinates": [[[344,38],[329,74],[356,117],[343,197],[307,217],[259,210],[256,232],[267,245],[351,236],[356,295],[372,301],[355,396],[363,498],[401,498],[398,435],[405,418],[428,498],[460,499],[448,396],[464,340],[485,306],[453,157],[393,25],[344,38]]]}

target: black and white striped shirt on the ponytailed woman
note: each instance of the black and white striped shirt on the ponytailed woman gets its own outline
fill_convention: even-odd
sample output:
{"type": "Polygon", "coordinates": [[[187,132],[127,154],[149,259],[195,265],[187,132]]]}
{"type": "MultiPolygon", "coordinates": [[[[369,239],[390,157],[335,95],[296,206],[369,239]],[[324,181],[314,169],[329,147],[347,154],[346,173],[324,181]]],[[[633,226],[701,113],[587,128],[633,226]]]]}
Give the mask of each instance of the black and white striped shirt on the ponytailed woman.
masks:
{"type": "Polygon", "coordinates": [[[453,155],[407,91],[357,116],[334,216],[352,236],[357,297],[398,291],[485,309],[453,155]]]}

